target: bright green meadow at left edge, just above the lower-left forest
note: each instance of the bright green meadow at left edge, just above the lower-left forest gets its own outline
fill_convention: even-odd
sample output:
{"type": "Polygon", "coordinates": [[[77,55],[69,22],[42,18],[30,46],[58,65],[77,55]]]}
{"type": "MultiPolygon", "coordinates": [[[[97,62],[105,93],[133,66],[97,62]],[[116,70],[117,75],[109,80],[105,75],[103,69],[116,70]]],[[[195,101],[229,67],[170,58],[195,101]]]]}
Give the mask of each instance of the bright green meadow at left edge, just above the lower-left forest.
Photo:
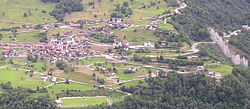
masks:
{"type": "Polygon", "coordinates": [[[0,83],[11,82],[13,87],[21,86],[23,88],[35,89],[36,87],[44,87],[49,85],[49,82],[43,82],[40,75],[29,77],[25,71],[4,70],[0,69],[0,83]]]}

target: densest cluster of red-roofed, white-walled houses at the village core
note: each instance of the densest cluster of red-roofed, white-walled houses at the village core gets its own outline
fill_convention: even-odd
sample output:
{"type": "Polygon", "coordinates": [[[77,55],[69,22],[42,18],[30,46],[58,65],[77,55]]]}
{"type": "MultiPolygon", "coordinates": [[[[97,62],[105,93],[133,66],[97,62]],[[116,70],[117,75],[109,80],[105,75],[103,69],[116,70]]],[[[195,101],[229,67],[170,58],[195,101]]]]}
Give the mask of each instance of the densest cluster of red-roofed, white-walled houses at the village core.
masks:
{"type": "Polygon", "coordinates": [[[79,57],[89,54],[89,36],[76,35],[72,32],[65,32],[57,37],[52,35],[44,45],[28,49],[31,55],[47,57],[51,63],[58,60],[79,60],[79,57]]]}

